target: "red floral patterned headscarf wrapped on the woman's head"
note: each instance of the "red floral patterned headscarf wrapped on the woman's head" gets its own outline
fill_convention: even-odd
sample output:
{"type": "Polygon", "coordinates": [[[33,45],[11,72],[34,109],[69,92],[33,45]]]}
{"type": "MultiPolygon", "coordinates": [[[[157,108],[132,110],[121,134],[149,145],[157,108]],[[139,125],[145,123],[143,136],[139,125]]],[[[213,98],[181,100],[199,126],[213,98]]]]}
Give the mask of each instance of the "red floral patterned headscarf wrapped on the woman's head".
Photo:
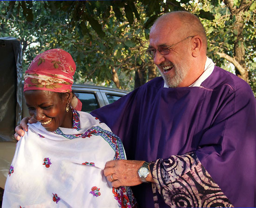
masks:
{"type": "Polygon", "coordinates": [[[37,55],[25,72],[24,92],[71,92],[75,68],[74,60],[66,51],[59,48],[47,50],[37,55]]]}

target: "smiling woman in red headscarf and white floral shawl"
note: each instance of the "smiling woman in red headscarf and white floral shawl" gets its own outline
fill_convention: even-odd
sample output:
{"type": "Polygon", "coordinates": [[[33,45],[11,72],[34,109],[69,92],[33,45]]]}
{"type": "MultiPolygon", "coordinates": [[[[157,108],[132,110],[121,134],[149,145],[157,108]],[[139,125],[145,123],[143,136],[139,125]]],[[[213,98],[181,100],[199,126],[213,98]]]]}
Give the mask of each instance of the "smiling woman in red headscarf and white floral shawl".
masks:
{"type": "Polygon", "coordinates": [[[126,159],[108,126],[70,106],[75,63],[61,49],[39,54],[28,67],[24,95],[38,122],[18,142],[3,208],[132,207],[129,187],[112,188],[106,161],[126,159]]]}

